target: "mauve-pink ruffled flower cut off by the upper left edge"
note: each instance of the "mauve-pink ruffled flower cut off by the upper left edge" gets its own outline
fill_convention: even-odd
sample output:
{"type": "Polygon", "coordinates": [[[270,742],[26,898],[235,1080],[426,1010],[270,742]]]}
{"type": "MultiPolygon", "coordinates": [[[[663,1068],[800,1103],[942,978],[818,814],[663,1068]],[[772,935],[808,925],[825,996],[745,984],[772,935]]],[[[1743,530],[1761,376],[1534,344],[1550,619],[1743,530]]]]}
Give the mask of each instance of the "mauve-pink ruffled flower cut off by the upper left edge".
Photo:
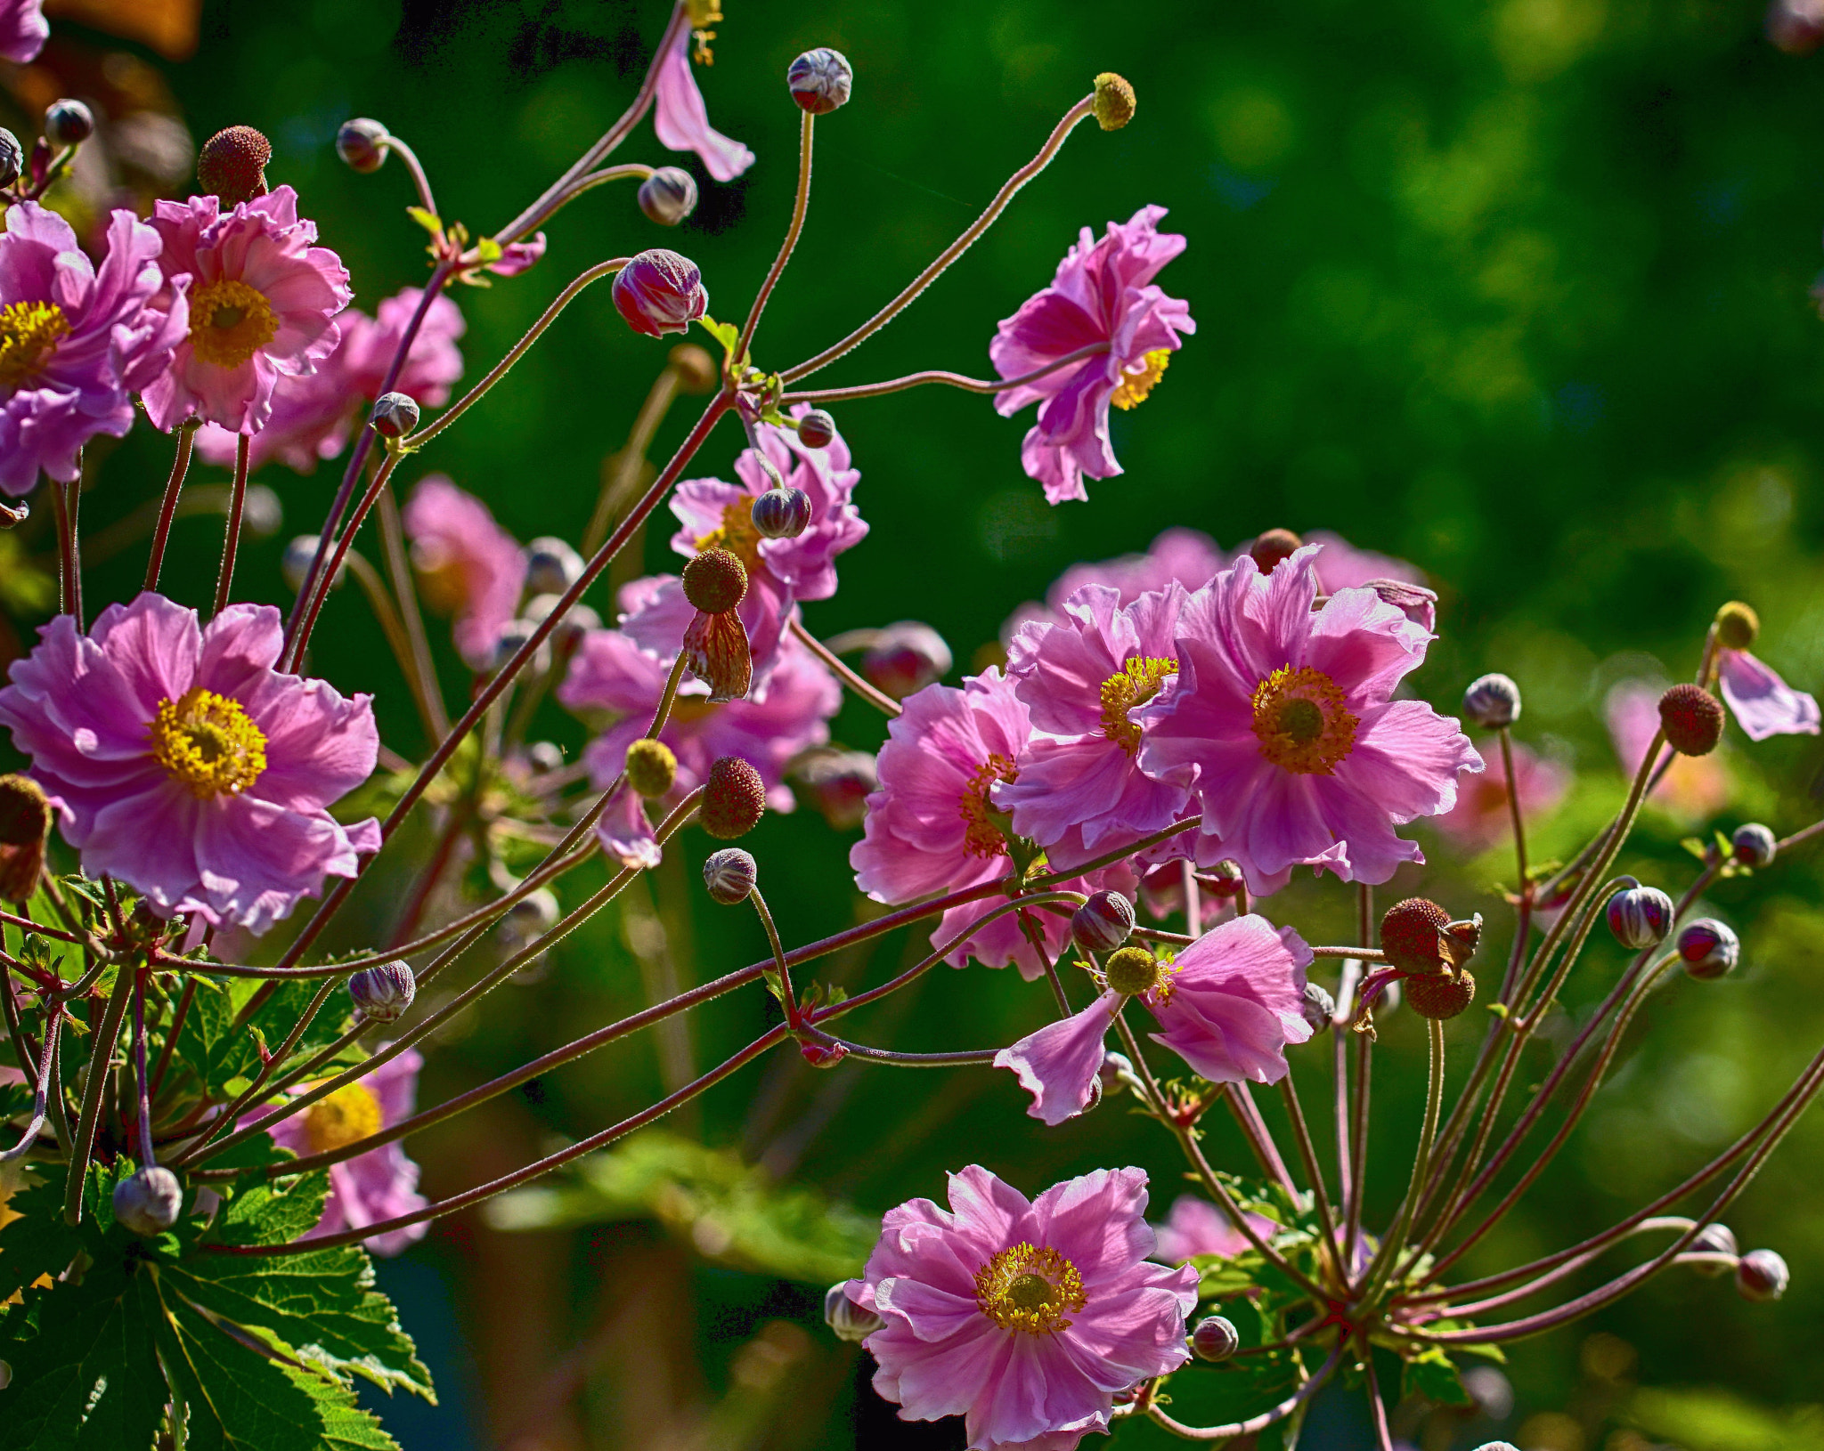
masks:
{"type": "Polygon", "coordinates": [[[190,326],[184,288],[166,308],[159,233],[131,211],[108,222],[100,270],[69,222],[38,202],[5,213],[0,235],[0,492],[29,494],[46,472],[77,478],[82,445],[133,427],[131,394],[171,361],[190,326]]]}

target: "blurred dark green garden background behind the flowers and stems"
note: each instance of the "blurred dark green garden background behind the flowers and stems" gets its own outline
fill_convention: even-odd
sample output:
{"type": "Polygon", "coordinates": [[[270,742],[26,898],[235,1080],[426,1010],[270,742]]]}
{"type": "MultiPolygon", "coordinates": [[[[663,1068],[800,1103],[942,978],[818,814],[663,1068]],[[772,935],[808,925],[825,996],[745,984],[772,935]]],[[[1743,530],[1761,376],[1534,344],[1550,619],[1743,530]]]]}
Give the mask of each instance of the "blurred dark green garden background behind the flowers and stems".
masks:
{"type": "MultiPolygon", "coordinates": [[[[186,137],[259,126],[277,151],[272,179],[299,190],[368,310],[423,279],[423,235],[403,215],[399,166],[372,177],[339,166],[337,122],[385,120],[418,148],[443,217],[485,232],[618,115],[664,26],[660,0],[49,9],[51,47],[5,75],[15,129],[27,133],[57,95],[95,100],[117,128],[111,180],[146,204],[188,184],[186,137]]],[[[1127,472],[1091,485],[1089,503],[1047,507],[1018,465],[1027,421],[1000,419],[985,399],[923,390],[841,410],[874,532],[841,561],[837,598],[806,609],[819,634],[927,620],[956,649],[954,684],[992,658],[1005,616],[1069,561],[1144,549],[1167,525],[1224,545],[1273,525],[1335,529],[1415,561],[1443,594],[1419,693],[1450,709],[1485,669],[1521,682],[1521,738],[1578,773],[1538,828],[1545,855],[1569,855],[1622,795],[1601,713],[1609,687],[1689,674],[1720,602],[1749,600],[1766,622],[1762,654],[1800,687],[1824,684],[1824,323],[1809,295],[1824,261],[1824,57],[1773,47],[1749,0],[728,0],[728,11],[699,80],[713,122],[759,162],[713,184],[642,128],[622,155],[697,171],[697,215],[660,232],[618,188],[573,204],[536,270],[458,297],[469,377],[567,277],[642,246],[691,255],[711,312],[739,317],[790,206],[797,111],[784,67],[814,44],[850,57],[855,93],[817,128],[810,222],[761,332],[762,366],[810,355],[890,297],[1102,69],[1135,82],[1133,126],[1078,131],[914,312],[824,379],[987,370],[996,321],[1049,281],[1080,226],[1158,202],[1189,239],[1160,281],[1191,301],[1197,337],[1142,408],[1116,416],[1127,472]]],[[[64,204],[80,215],[100,197],[91,177],[64,204]]],[[[596,288],[401,478],[443,470],[520,538],[575,541],[664,352],[596,288]]],[[[688,427],[686,403],[660,430],[660,458],[688,427]]],[[[730,476],[735,448],[731,428],[717,434],[695,472],[730,476]]],[[[82,505],[97,554],[91,611],[137,587],[135,510],[157,496],[170,443],[140,428],[93,454],[82,505]],[[108,549],[113,558],[100,558],[108,549]]],[[[283,525],[246,547],[243,592],[290,602],[279,552],[316,527],[337,478],[337,465],[259,476],[283,525]]],[[[223,483],[223,470],[193,476],[223,483]]],[[[40,516],[35,525],[49,509],[40,516]]],[[[649,569],[671,567],[666,534],[644,540],[649,569]]],[[[5,653],[51,609],[47,547],[33,527],[0,534],[5,653]]],[[[173,594],[206,602],[217,549],[219,516],[179,523],[173,594]]],[[[606,591],[593,603],[609,612],[606,591]]],[[[438,634],[458,700],[465,676],[438,634]]],[[[392,749],[425,749],[358,591],[330,602],[312,667],[376,693],[392,749]]],[[[584,742],[556,709],[536,733],[571,753],[584,742]]],[[[835,733],[874,749],[883,726],[850,704],[835,733]]],[[[1631,870],[1676,893],[1694,866],[1680,848],[1693,831],[1806,824],[1824,809],[1820,764],[1815,740],[1747,749],[1731,727],[1727,804],[1702,817],[1651,811],[1631,870]]],[[[854,835],[812,811],[768,817],[755,833],[788,941],[866,911],[846,868],[854,835]]],[[[1404,870],[1386,891],[1485,911],[1499,952],[1508,857],[1465,860],[1425,840],[1434,864],[1404,870]]],[[[764,944],[751,917],[711,908],[695,888],[704,853],[688,833],[651,882],[458,1021],[430,1054],[423,1096],[491,1077],[668,983],[755,961],[764,944]]],[[[1778,1096],[1824,1035],[1819,862],[1795,853],[1715,890],[1709,908],[1744,935],[1744,970],[1654,1001],[1587,1128],[1474,1271],[1612,1221],[1778,1096]]],[[[567,900],[593,884],[567,886],[567,900]]],[[[376,873],[336,946],[381,933],[399,888],[376,873]]],[[[1304,882],[1270,911],[1313,941],[1342,941],[1352,899],[1304,882]]],[[[881,981],[921,942],[888,937],[819,975],[881,981]]],[[[1596,1001],[1620,961],[1607,942],[1591,950],[1560,1024],[1596,1001]]],[[[759,990],[741,993],[414,1139],[423,1187],[460,1190],[622,1117],[748,1041],[772,1010],[759,990]]],[[[1043,988],[1012,973],[939,970],[916,999],[855,1028],[908,1050],[978,1046],[1045,1015],[1043,988]]],[[[1459,1068],[1477,1032],[1472,1019],[1452,1026],[1459,1068]]],[[[1541,1072],[1549,1052],[1538,1050],[1541,1072]]],[[[1306,1059],[1315,1110],[1328,1050],[1306,1059]]],[[[1410,1015],[1386,1019],[1377,1059],[1375,1218],[1404,1183],[1419,1119],[1425,1048],[1410,1015]]],[[[866,1391],[866,1356],[823,1331],[826,1271],[850,1252],[855,1225],[914,1194],[939,1196],[945,1168],[969,1161],[1031,1192],[1094,1165],[1140,1163],[1160,1210],[1180,1185],[1164,1136],[1118,1106],[1056,1130],[1023,1108],[1012,1077],[989,1070],[814,1074],[784,1055],[751,1068],[666,1125],[715,1156],[653,1141],[593,1190],[567,1181],[564,1199],[445,1219],[383,1263],[381,1283],[443,1396],[434,1409],[392,1402],[387,1422],[410,1451],[959,1447],[954,1425],[899,1425],[866,1391]],[[792,1198],[801,1192],[821,1198],[792,1198]],[[564,1214],[591,1221],[511,1227],[564,1214]]],[[[1217,1163],[1248,1168],[1228,1127],[1211,1128],[1217,1163]]],[[[1811,1114],[1729,1216],[1744,1249],[1786,1254],[1784,1302],[1751,1307],[1727,1280],[1662,1276],[1583,1325],[1514,1347],[1501,1418],[1421,1424],[1404,1407],[1403,1431],[1428,1449],[1496,1431],[1529,1451],[1824,1446],[1820,1150],[1824,1117],[1811,1114]]],[[[1189,1385],[1178,1409],[1195,1418],[1189,1385]]],[[[1149,1427],[1122,1436],[1164,1444],[1149,1427]]],[[[1366,1440],[1350,1407],[1326,1400],[1310,1444],[1366,1440]]]]}

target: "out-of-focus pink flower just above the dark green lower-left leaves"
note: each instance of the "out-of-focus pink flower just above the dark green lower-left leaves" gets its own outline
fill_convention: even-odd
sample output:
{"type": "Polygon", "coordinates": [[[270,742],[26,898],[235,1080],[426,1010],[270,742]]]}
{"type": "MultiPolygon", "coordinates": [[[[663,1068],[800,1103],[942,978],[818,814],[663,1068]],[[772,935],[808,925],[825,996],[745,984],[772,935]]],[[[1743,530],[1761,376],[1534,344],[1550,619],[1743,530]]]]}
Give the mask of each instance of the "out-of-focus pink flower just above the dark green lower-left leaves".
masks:
{"type": "MultiPolygon", "coordinates": [[[[305,1158],[326,1154],[390,1128],[412,1116],[418,1070],[423,1063],[416,1050],[407,1048],[367,1077],[317,1099],[305,1112],[279,1119],[268,1132],[281,1148],[305,1158]]],[[[303,1238],[317,1240],[345,1229],[365,1229],[420,1210],[427,1203],[430,1201],[418,1192],[418,1165],[405,1158],[405,1148],[394,1139],[330,1165],[330,1196],[323,1201],[323,1218],[303,1238]]],[[[374,1254],[403,1254],[423,1240],[429,1229],[429,1223],[407,1225],[363,1243],[374,1254]]]]}

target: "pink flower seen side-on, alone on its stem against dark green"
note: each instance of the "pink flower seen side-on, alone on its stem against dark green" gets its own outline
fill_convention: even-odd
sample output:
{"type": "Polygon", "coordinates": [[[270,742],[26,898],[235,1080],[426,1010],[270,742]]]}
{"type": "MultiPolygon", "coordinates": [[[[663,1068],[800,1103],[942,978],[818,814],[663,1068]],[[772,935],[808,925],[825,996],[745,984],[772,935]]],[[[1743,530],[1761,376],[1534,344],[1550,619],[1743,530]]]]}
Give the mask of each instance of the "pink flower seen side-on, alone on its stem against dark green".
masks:
{"type": "Polygon", "coordinates": [[[1182,346],[1178,334],[1197,332],[1189,303],[1151,284],[1184,252],[1184,237],[1156,230],[1164,215],[1162,206],[1144,206],[1127,222],[1109,222],[1102,241],[1085,226],[1051,286],[1001,323],[989,345],[1001,377],[1021,377],[1093,343],[1109,345],[1105,354],[994,396],[1003,417],[1040,405],[1020,463],[1045,485],[1051,503],[1087,499],[1085,476],[1122,472],[1109,443],[1109,405],[1133,408],[1145,399],[1182,346]]]}

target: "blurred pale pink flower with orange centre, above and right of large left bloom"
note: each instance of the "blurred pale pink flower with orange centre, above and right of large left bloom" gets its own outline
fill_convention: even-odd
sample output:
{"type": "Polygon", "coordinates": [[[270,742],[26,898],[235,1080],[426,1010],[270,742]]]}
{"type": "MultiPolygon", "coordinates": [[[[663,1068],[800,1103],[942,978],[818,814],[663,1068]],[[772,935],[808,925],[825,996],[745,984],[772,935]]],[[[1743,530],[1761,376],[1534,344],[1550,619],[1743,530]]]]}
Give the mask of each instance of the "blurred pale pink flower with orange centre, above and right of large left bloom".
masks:
{"type": "Polygon", "coordinates": [[[456,616],[452,634],[474,671],[494,664],[525,592],[525,551],[474,494],[427,474],[401,516],[425,603],[456,616]]]}

